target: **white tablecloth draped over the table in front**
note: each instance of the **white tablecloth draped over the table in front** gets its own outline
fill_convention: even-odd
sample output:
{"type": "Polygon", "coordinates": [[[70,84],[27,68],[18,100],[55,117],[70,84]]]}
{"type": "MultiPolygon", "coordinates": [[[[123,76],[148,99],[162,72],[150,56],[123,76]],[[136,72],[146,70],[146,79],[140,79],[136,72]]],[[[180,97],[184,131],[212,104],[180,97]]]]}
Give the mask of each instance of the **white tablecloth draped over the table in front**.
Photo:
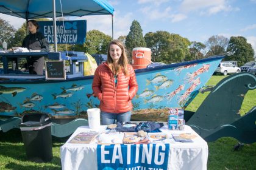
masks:
{"type": "MultiPolygon", "coordinates": [[[[101,126],[99,132],[104,132],[106,126],[101,126]]],[[[97,144],[69,143],[80,132],[90,131],[88,126],[80,126],[60,148],[60,157],[63,170],[71,169],[97,169],[97,144]]],[[[166,134],[179,134],[196,132],[190,126],[184,131],[169,131],[167,126],[161,128],[166,134]]],[[[197,135],[197,134],[196,134],[197,135]]],[[[169,145],[168,169],[207,169],[208,145],[199,135],[192,143],[172,142],[169,145]]]]}

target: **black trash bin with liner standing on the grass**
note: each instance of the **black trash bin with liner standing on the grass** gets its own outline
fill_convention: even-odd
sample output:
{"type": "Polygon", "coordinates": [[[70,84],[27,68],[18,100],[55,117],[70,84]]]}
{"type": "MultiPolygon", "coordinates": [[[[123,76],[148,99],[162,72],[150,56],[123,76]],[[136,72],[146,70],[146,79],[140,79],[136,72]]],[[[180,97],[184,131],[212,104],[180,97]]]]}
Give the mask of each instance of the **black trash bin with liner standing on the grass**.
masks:
{"type": "Polygon", "coordinates": [[[21,118],[21,135],[27,158],[31,161],[52,160],[51,121],[46,114],[25,114],[21,118]]]}

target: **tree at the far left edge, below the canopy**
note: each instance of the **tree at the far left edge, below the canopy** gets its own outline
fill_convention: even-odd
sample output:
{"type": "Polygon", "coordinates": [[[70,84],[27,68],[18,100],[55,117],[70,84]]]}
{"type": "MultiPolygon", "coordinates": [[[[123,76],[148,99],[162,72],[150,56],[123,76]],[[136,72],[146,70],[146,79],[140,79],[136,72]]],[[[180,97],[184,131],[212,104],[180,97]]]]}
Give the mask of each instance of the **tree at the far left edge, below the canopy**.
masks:
{"type": "Polygon", "coordinates": [[[8,48],[9,44],[12,44],[13,37],[15,34],[15,29],[12,25],[9,24],[8,21],[0,18],[0,43],[2,46],[2,42],[7,42],[8,48]]]}

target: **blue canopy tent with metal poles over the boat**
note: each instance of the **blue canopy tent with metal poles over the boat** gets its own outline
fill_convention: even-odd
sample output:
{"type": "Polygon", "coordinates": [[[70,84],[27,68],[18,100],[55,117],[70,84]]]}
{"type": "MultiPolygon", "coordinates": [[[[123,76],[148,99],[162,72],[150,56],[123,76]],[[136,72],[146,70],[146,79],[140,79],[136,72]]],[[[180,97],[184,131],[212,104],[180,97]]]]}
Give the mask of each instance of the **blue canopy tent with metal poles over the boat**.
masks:
{"type": "MultiPolygon", "coordinates": [[[[26,20],[52,18],[54,21],[54,39],[56,39],[56,17],[112,15],[113,38],[114,9],[105,0],[0,0],[0,12],[26,20]]],[[[56,41],[55,51],[57,51],[56,41]]]]}

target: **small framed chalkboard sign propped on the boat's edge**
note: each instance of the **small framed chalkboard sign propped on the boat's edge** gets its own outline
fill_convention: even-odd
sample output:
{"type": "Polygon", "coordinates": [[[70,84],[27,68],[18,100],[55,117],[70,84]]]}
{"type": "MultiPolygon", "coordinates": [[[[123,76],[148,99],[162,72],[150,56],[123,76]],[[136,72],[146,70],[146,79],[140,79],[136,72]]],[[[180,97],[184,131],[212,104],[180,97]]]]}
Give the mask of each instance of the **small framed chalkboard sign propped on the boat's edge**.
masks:
{"type": "Polygon", "coordinates": [[[46,61],[46,80],[66,80],[65,61],[46,61]]]}

